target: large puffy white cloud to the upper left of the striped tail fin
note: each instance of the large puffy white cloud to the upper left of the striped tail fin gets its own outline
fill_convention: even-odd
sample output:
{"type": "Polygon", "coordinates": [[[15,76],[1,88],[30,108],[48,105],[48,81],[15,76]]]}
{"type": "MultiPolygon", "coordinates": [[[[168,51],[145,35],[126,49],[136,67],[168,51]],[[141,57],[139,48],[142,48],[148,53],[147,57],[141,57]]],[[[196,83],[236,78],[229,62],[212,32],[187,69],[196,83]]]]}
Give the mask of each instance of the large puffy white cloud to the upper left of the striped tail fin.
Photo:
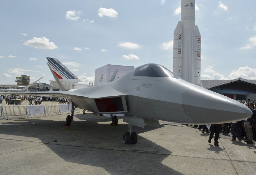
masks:
{"type": "Polygon", "coordinates": [[[49,42],[49,39],[45,37],[43,38],[34,37],[33,39],[30,39],[25,43],[23,43],[23,45],[34,47],[37,49],[48,49],[48,50],[53,50],[58,48],[53,42],[49,42]]]}

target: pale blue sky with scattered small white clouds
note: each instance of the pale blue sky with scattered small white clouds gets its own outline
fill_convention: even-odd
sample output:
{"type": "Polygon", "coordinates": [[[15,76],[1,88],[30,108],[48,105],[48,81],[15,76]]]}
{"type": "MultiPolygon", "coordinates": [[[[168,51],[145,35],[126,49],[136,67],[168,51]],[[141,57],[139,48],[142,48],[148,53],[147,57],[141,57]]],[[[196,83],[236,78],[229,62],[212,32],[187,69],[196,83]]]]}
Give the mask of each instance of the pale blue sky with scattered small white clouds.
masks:
{"type": "MultiPolygon", "coordinates": [[[[256,79],[256,1],[196,0],[201,79],[256,79]]],[[[106,64],[173,70],[180,0],[1,0],[0,84],[54,80],[46,57],[83,82],[106,64]]]]}

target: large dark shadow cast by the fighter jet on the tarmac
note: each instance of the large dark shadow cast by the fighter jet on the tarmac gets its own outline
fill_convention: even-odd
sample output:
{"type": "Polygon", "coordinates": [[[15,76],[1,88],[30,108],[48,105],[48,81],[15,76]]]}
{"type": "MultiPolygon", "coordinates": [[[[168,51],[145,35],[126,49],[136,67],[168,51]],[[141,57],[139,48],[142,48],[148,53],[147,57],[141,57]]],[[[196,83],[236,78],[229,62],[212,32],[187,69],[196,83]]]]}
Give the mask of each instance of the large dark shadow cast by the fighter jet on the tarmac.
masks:
{"type": "MultiPolygon", "coordinates": [[[[110,174],[181,174],[161,163],[172,152],[154,142],[138,135],[137,144],[123,144],[127,124],[113,126],[109,117],[93,114],[75,117],[82,121],[73,121],[71,127],[65,127],[65,121],[17,119],[2,123],[0,133],[23,136],[20,140],[27,142],[38,138],[63,160],[102,167],[110,174]]],[[[137,134],[154,129],[133,126],[137,134]]]]}

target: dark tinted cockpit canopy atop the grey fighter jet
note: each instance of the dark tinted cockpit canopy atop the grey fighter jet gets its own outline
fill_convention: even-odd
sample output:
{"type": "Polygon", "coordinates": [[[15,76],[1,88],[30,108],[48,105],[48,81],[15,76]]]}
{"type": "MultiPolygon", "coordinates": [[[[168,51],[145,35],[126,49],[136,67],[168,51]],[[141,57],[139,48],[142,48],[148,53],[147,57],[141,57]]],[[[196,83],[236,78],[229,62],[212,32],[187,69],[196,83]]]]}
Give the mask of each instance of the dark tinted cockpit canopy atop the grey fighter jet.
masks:
{"type": "Polygon", "coordinates": [[[139,66],[134,71],[133,76],[148,76],[148,77],[172,77],[178,79],[179,77],[169,71],[167,68],[159,64],[145,64],[139,66]]]}

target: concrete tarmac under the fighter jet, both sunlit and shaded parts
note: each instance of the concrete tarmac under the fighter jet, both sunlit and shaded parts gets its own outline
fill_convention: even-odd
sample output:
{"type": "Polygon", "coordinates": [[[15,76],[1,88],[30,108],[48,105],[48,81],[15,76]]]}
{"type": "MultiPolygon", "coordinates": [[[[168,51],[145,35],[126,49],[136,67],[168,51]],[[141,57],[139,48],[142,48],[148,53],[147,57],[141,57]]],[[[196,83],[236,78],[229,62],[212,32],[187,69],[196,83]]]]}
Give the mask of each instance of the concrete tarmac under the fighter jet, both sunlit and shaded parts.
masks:
{"type": "MultiPolygon", "coordinates": [[[[0,120],[0,174],[256,174],[255,144],[232,142],[175,125],[133,127],[135,145],[122,143],[127,123],[76,113],[0,120]]],[[[165,123],[165,122],[164,122],[165,123]]],[[[177,125],[176,125],[177,124],[177,125]]]]}

